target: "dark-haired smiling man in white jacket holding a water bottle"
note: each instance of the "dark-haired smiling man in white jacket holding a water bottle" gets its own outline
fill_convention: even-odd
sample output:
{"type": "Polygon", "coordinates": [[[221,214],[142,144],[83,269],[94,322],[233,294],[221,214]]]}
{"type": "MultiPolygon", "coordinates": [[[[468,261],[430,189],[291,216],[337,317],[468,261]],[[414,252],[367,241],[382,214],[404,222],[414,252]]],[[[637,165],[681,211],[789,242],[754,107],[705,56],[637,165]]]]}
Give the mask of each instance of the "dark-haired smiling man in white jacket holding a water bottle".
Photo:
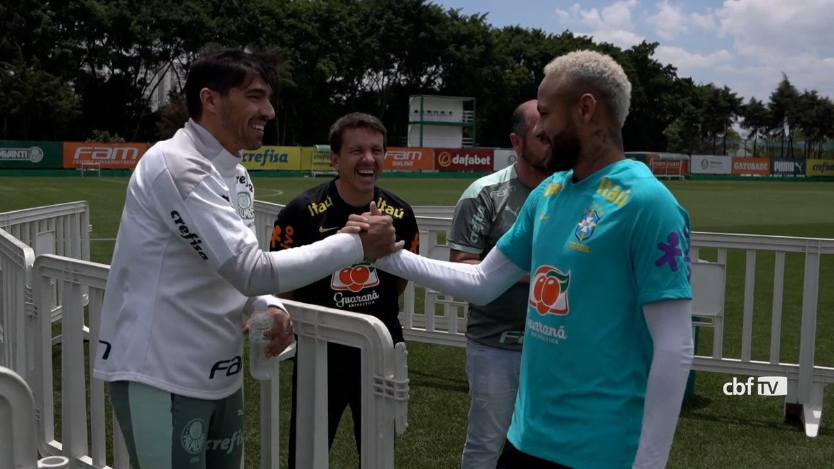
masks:
{"type": "Polygon", "coordinates": [[[266,353],[276,356],[293,325],[270,294],[401,247],[390,217],[377,217],[361,240],[346,228],[259,249],[239,152],[258,149],[275,116],[274,63],[242,50],[199,58],[185,84],[191,119],[148,149],[128,183],[93,376],[110,381],[133,469],[238,469],[244,315],[273,313],[266,353]]]}

